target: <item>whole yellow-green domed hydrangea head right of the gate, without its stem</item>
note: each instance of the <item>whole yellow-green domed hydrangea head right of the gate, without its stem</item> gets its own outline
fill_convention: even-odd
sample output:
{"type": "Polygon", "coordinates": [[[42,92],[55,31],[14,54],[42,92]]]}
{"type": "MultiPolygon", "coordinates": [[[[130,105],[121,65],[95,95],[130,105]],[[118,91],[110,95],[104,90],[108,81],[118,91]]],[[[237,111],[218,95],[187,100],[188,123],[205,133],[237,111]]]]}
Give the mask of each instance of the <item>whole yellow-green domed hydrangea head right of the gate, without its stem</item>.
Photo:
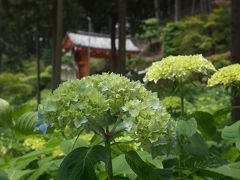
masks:
{"type": "Polygon", "coordinates": [[[207,74],[209,71],[215,71],[215,67],[202,55],[168,56],[152,64],[144,81],[185,81],[192,73],[207,74]]]}

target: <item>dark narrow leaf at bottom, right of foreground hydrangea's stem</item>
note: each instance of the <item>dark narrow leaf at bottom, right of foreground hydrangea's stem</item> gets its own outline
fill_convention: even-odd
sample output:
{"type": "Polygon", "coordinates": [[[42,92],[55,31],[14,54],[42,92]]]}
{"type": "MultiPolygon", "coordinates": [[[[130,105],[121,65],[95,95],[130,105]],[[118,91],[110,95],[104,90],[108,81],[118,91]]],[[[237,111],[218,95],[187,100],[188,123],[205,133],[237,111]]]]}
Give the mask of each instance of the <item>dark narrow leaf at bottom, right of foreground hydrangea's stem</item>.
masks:
{"type": "Polygon", "coordinates": [[[125,158],[131,169],[142,179],[169,179],[172,175],[169,169],[156,169],[148,165],[135,151],[129,151],[125,158]]]}

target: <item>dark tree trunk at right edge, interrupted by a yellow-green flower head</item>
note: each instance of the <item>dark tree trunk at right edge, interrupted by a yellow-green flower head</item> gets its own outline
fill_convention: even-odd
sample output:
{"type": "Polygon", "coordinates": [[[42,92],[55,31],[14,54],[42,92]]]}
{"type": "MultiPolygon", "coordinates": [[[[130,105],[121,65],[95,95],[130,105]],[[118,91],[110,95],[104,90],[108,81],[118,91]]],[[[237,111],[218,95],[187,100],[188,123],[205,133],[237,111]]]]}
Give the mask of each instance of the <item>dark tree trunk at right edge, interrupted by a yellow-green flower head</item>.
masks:
{"type": "MultiPolygon", "coordinates": [[[[240,63],[240,1],[232,0],[232,63],[240,63]]],[[[240,120],[240,97],[237,96],[239,89],[232,88],[232,121],[240,120]],[[234,108],[235,107],[235,108],[234,108]]]]}

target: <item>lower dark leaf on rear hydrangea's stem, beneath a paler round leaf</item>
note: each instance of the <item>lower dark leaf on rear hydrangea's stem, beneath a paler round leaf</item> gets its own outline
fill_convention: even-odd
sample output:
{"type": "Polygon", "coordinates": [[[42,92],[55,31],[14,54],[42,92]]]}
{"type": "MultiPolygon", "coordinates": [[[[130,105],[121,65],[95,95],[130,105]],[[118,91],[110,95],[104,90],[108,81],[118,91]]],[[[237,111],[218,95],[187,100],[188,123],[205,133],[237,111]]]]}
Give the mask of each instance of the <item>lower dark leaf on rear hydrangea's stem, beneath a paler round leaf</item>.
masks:
{"type": "Polygon", "coordinates": [[[198,157],[204,157],[208,154],[208,145],[199,133],[195,133],[187,140],[188,142],[182,145],[185,151],[198,157]]]}

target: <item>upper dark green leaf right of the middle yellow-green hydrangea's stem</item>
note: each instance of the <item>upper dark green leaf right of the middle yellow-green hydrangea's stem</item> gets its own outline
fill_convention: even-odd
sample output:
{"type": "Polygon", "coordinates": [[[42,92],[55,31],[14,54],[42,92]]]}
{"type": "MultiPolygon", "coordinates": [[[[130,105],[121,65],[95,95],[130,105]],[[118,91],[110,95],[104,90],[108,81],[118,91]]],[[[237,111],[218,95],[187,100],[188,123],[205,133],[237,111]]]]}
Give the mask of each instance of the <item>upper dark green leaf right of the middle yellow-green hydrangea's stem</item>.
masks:
{"type": "Polygon", "coordinates": [[[212,138],[216,134],[216,125],[212,114],[196,111],[193,113],[193,117],[197,121],[198,129],[205,137],[212,138]]]}

